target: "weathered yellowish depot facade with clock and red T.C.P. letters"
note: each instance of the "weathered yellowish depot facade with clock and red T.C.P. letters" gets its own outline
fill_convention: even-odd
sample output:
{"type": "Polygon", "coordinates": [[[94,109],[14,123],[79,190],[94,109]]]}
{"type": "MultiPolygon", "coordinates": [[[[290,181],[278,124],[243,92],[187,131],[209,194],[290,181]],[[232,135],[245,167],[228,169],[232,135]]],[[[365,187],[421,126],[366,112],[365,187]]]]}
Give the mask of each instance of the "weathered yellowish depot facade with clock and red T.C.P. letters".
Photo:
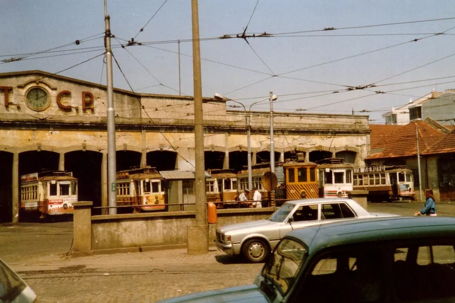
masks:
{"type": "MultiPolygon", "coordinates": [[[[0,73],[0,102],[0,222],[17,215],[13,206],[20,199],[20,177],[43,170],[72,172],[79,201],[107,206],[106,86],[36,70],[0,73]]],[[[114,109],[117,172],[140,165],[194,171],[192,97],[114,89],[114,109]]],[[[242,171],[247,165],[245,112],[228,110],[226,101],[215,98],[203,98],[203,111],[206,170],[242,171]]],[[[300,152],[313,162],[336,157],[354,166],[383,163],[368,158],[371,132],[366,115],[275,112],[275,159],[300,152]]],[[[252,112],[253,164],[270,160],[269,144],[269,113],[252,112]]],[[[191,180],[179,181],[169,203],[183,203],[183,193],[192,187],[191,180]]]]}

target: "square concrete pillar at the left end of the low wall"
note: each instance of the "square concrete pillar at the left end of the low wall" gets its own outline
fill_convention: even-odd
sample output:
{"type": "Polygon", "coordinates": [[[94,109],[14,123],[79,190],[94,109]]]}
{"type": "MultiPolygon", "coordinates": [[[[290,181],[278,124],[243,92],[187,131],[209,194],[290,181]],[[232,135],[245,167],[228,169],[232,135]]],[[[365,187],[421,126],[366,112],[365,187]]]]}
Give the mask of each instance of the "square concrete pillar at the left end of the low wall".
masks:
{"type": "Polygon", "coordinates": [[[92,250],[92,205],[92,201],[73,202],[73,256],[92,250]]]}

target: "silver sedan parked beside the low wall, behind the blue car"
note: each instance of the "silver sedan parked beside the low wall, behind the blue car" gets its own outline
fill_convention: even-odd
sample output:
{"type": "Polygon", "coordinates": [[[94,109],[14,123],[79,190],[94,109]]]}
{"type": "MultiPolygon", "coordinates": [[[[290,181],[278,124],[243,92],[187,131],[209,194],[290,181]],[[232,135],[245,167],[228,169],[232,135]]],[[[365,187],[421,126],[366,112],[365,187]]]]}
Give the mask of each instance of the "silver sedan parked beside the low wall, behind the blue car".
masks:
{"type": "Polygon", "coordinates": [[[395,217],[370,213],[354,200],[318,198],[287,201],[268,219],[232,224],[216,229],[216,246],[228,255],[244,255],[262,262],[288,232],[311,225],[345,220],[395,217]]]}

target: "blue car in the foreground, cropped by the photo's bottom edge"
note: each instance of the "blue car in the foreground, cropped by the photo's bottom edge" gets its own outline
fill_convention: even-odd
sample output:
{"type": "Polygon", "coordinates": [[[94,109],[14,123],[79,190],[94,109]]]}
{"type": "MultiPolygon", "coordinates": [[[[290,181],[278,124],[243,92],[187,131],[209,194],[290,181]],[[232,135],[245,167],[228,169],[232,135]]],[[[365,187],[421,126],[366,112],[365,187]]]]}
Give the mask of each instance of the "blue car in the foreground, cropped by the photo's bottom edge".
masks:
{"type": "Polygon", "coordinates": [[[455,218],[368,219],[294,230],[252,285],[162,302],[455,302],[455,218]]]}

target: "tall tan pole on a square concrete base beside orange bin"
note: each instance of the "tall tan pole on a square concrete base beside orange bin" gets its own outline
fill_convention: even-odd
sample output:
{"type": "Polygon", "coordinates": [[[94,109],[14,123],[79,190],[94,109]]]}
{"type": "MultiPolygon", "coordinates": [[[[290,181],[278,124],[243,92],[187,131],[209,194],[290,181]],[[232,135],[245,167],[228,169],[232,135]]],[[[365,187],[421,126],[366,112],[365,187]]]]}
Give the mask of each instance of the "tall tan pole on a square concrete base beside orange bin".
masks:
{"type": "Polygon", "coordinates": [[[188,228],[188,254],[209,252],[209,225],[205,191],[204,123],[202,111],[201,53],[197,0],[191,0],[193,25],[193,85],[195,102],[195,226],[188,228]]]}

